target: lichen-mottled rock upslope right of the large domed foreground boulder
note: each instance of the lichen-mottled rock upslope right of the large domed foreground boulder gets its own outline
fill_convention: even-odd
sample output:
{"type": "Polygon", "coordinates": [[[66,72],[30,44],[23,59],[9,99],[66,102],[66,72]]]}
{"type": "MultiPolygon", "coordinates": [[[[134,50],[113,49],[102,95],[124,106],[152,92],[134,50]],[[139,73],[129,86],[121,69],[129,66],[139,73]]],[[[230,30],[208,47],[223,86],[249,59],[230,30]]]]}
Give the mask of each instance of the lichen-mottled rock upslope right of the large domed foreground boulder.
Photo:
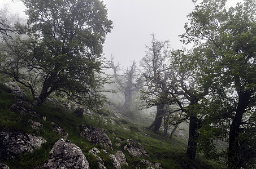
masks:
{"type": "Polygon", "coordinates": [[[81,129],[81,137],[84,137],[92,144],[101,144],[112,150],[112,143],[103,129],[86,125],[82,126],[81,129]]]}

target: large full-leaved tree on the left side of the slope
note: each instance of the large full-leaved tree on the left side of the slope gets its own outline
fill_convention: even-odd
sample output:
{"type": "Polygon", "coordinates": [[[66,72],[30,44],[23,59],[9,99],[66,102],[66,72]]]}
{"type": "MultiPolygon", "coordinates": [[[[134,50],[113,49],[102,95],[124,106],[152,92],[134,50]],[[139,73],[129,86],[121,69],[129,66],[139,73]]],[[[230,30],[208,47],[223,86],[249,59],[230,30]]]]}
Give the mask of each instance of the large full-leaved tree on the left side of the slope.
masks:
{"type": "Polygon", "coordinates": [[[102,45],[112,28],[106,6],[98,0],[23,3],[28,24],[22,37],[6,38],[1,46],[1,73],[28,87],[33,105],[53,92],[84,105],[97,102],[102,45]]]}

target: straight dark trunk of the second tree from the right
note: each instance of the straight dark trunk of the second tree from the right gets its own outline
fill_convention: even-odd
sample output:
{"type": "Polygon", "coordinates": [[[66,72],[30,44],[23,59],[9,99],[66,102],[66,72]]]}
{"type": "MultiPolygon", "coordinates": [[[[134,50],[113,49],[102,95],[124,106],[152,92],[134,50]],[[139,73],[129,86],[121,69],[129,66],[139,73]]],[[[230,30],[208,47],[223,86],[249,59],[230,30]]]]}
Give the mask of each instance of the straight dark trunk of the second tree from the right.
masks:
{"type": "Polygon", "coordinates": [[[199,128],[198,119],[193,115],[190,116],[189,120],[189,138],[188,138],[188,148],[186,150],[186,154],[190,159],[196,158],[197,153],[197,139],[198,134],[197,130],[199,128]]]}

